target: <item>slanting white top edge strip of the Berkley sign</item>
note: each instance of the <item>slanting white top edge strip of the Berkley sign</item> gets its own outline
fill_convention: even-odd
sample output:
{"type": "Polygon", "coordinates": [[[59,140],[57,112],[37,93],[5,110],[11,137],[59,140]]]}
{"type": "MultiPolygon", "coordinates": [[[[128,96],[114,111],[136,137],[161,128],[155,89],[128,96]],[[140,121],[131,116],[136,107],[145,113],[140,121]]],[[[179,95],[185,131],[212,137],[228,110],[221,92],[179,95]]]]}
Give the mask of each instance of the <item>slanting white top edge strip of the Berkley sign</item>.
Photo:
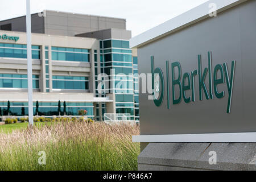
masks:
{"type": "Polygon", "coordinates": [[[144,44],[162,38],[163,36],[190,26],[191,24],[199,22],[200,20],[209,18],[210,3],[216,3],[217,13],[220,13],[221,11],[225,11],[245,1],[247,0],[210,0],[205,2],[181,15],[176,16],[175,18],[168,20],[167,22],[160,24],[159,26],[151,28],[150,30],[130,39],[130,48],[141,47],[144,44]]]}

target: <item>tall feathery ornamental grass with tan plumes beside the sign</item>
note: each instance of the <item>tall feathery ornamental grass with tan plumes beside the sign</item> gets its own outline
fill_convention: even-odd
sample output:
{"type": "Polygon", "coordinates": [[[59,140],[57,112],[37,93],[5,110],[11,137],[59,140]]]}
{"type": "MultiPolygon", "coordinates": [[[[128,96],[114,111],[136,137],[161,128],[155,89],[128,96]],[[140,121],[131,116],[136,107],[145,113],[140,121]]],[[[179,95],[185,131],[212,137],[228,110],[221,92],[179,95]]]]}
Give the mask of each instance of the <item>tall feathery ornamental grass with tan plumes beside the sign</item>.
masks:
{"type": "Polygon", "coordinates": [[[56,122],[0,133],[0,170],[136,170],[139,127],[56,122]],[[39,164],[39,151],[46,164],[39,164]]]}

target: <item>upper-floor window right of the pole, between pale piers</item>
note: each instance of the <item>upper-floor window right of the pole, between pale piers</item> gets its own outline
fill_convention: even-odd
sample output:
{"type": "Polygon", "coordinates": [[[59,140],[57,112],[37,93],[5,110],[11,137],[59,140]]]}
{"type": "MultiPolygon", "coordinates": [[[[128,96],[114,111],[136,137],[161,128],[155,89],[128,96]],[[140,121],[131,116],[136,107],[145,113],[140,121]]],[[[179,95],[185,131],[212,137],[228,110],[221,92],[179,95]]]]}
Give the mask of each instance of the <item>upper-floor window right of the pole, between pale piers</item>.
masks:
{"type": "Polygon", "coordinates": [[[52,47],[52,60],[58,61],[90,61],[89,49],[52,47]]]}

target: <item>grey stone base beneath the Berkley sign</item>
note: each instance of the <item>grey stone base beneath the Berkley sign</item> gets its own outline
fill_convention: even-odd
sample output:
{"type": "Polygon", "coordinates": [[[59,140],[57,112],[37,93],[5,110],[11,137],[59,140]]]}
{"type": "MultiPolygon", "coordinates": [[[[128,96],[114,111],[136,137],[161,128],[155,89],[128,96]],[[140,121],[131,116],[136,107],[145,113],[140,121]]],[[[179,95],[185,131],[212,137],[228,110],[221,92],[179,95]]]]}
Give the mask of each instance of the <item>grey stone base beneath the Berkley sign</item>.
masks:
{"type": "Polygon", "coordinates": [[[256,171],[256,143],[148,143],[138,156],[138,170],[256,171]],[[216,164],[209,164],[214,152],[216,164]]]}

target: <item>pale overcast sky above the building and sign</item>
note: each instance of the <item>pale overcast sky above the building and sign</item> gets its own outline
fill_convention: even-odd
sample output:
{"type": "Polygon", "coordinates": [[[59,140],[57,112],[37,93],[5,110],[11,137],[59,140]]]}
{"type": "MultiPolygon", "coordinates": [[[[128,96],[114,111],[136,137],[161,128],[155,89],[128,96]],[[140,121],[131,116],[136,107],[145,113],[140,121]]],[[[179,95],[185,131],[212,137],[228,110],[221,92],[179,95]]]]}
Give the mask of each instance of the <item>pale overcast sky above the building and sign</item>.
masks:
{"type": "MultiPolygon", "coordinates": [[[[31,13],[43,9],[126,19],[133,36],[208,0],[31,0],[31,13]]],[[[0,20],[26,14],[26,0],[1,0],[0,20]]]]}

